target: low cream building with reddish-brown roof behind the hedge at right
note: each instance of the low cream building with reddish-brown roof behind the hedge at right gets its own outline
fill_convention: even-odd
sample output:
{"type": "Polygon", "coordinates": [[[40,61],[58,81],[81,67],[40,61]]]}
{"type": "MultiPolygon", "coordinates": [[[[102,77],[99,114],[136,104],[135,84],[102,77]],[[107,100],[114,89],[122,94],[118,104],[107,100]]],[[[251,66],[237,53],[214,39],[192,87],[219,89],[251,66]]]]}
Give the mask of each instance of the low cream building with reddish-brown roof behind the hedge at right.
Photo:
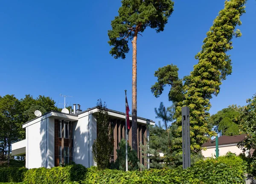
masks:
{"type": "MultiPolygon", "coordinates": [[[[243,153],[243,150],[237,147],[237,144],[244,140],[246,137],[246,134],[241,134],[238,136],[220,136],[218,138],[218,150],[219,150],[219,156],[226,155],[227,152],[236,153],[236,155],[239,155],[240,153],[243,153]]],[[[206,142],[202,145],[203,148],[206,148],[206,150],[202,150],[202,154],[204,158],[208,157],[215,157],[216,155],[216,142],[215,139],[206,142]]],[[[248,153],[246,153],[248,154],[248,153]]]]}

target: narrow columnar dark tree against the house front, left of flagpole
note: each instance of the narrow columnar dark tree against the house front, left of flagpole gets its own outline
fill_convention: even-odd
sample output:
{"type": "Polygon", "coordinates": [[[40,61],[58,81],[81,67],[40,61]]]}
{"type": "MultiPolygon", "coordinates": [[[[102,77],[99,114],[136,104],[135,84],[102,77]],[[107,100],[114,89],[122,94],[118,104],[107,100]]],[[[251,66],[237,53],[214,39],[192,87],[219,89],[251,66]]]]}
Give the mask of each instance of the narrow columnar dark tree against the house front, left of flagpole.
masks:
{"type": "Polygon", "coordinates": [[[105,102],[102,104],[99,99],[97,108],[97,138],[93,142],[93,159],[99,169],[106,169],[113,150],[112,128],[105,102]]]}

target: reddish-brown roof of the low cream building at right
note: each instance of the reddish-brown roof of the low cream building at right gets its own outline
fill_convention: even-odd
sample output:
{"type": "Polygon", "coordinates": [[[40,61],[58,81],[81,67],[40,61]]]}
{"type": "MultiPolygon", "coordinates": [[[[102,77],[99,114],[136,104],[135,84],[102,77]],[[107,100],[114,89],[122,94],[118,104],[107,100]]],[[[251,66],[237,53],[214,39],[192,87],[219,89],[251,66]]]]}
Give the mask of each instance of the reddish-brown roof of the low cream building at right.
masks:
{"type": "MultiPolygon", "coordinates": [[[[237,136],[220,136],[218,138],[218,144],[234,144],[234,143],[239,143],[242,140],[244,140],[246,137],[246,134],[241,134],[241,135],[237,135],[237,136]]],[[[207,147],[207,146],[215,146],[215,139],[209,141],[209,142],[205,142],[202,147],[207,147]]]]}

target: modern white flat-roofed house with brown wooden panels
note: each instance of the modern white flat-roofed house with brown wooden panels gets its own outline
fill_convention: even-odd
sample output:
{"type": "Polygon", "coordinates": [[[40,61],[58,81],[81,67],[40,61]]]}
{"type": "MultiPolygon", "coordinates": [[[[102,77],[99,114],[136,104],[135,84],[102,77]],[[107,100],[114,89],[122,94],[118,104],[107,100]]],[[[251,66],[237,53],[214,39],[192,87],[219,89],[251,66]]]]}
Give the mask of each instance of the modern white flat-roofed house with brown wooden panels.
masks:
{"type": "MultiPolygon", "coordinates": [[[[26,128],[26,139],[12,144],[12,156],[26,156],[26,167],[55,167],[74,161],[85,167],[96,165],[93,161],[92,145],[97,136],[96,107],[82,112],[80,105],[73,113],[50,111],[23,125],[26,128]]],[[[125,113],[108,109],[113,127],[114,148],[111,161],[116,160],[116,149],[122,138],[125,139],[125,113]]],[[[131,121],[131,116],[130,116],[131,121]]],[[[131,123],[130,123],[131,124],[131,123]]],[[[152,120],[137,118],[138,157],[140,163],[146,165],[142,158],[139,142],[144,145],[149,139],[146,125],[154,125],[152,120]],[[146,140],[145,140],[146,139],[146,140]]],[[[131,129],[128,131],[131,145],[131,129]]]]}

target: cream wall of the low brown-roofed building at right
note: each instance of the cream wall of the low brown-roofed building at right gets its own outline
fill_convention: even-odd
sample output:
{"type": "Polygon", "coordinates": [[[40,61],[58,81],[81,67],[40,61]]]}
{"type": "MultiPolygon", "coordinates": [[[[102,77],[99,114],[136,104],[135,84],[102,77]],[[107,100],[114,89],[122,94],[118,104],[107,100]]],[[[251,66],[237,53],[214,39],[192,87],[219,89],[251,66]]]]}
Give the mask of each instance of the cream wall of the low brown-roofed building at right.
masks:
{"type": "MultiPolygon", "coordinates": [[[[224,144],[219,145],[219,156],[226,155],[227,152],[236,153],[236,155],[239,155],[240,153],[243,153],[243,150],[237,147],[237,144],[224,144]]],[[[202,150],[202,155],[207,157],[215,157],[215,146],[207,147],[207,150],[202,150]]]]}

